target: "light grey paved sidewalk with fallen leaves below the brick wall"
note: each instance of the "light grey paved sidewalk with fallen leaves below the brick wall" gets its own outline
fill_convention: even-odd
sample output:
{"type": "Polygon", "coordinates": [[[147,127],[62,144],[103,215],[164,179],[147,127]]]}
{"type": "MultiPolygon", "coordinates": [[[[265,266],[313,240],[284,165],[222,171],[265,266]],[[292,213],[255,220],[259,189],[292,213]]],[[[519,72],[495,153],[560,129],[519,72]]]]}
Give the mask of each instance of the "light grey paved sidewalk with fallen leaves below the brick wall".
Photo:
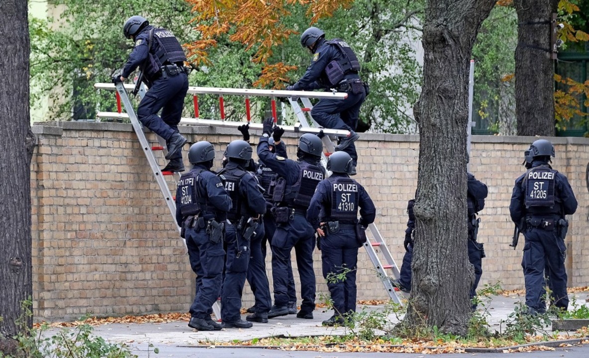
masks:
{"type": "MultiPolygon", "coordinates": [[[[585,299],[589,293],[582,292],[575,294],[578,304],[586,304],[585,299]]],[[[571,298],[573,294],[570,295],[571,298]]],[[[499,330],[502,320],[507,320],[508,314],[513,312],[515,304],[523,301],[524,297],[512,295],[509,297],[494,296],[488,307],[491,314],[489,323],[491,330],[499,330]]],[[[366,309],[381,309],[382,306],[359,306],[366,309]]],[[[186,353],[177,353],[183,347],[181,352],[190,352],[195,350],[199,342],[230,342],[234,340],[251,340],[254,338],[264,338],[271,336],[318,336],[318,335],[339,335],[345,334],[346,329],[343,327],[323,327],[322,320],[332,316],[332,312],[325,312],[324,309],[315,310],[314,319],[297,319],[294,314],[289,316],[277,317],[270,319],[269,323],[254,323],[251,329],[224,329],[215,332],[196,332],[187,326],[187,322],[168,322],[168,323],[114,323],[95,326],[94,333],[103,337],[111,343],[126,343],[135,349],[135,354],[140,357],[181,357],[187,356],[186,353]],[[160,354],[155,355],[153,352],[147,352],[148,344],[158,347],[160,354]]],[[[244,317],[243,317],[244,318],[244,317]]],[[[392,322],[396,319],[391,317],[392,322]]],[[[504,327],[502,327],[504,329],[504,327]]],[[[50,329],[45,334],[51,336],[57,332],[57,329],[50,329]]],[[[223,349],[217,349],[218,352],[226,352],[223,349]]],[[[319,353],[319,352],[315,352],[319,353]]],[[[391,354],[391,353],[389,353],[391,354]]],[[[325,357],[335,357],[340,354],[327,353],[325,357]]],[[[224,355],[223,355],[224,356],[224,355]]],[[[315,354],[319,356],[319,354],[315,354]]],[[[314,357],[314,356],[313,356],[314,357]]]]}

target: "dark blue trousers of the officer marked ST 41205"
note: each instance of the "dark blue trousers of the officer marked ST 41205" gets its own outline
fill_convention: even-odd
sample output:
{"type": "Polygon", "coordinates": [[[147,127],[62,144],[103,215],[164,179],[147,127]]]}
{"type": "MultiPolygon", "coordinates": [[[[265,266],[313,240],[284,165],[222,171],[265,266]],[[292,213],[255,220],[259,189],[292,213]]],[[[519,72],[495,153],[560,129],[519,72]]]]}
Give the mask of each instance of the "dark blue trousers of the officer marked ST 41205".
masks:
{"type": "MultiPolygon", "coordinates": [[[[525,304],[538,312],[545,310],[545,265],[550,269],[551,302],[568,308],[567,270],[564,267],[564,242],[556,230],[531,227],[524,232],[524,257],[521,266],[525,277],[525,304]]],[[[549,287],[550,287],[549,286],[549,287]]]]}

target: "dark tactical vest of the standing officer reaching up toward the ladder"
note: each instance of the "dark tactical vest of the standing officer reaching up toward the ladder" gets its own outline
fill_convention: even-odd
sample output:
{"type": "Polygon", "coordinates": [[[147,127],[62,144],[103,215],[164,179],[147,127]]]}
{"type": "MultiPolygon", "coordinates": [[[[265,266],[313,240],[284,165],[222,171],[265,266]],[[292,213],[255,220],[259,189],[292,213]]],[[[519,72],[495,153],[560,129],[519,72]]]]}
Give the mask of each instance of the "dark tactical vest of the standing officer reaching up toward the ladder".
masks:
{"type": "Polygon", "coordinates": [[[278,179],[273,199],[283,206],[307,210],[315,188],[325,178],[325,173],[319,166],[306,162],[299,162],[299,167],[299,178],[293,185],[286,185],[286,179],[282,177],[278,179]]]}

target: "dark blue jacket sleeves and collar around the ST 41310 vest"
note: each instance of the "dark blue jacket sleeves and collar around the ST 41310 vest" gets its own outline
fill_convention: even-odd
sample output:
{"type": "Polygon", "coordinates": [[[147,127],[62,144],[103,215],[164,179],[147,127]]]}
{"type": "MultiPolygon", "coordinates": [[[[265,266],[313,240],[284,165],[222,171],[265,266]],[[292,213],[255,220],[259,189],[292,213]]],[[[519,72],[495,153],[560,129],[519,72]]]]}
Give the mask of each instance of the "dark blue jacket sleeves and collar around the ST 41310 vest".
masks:
{"type": "MultiPolygon", "coordinates": [[[[348,175],[341,173],[333,173],[332,178],[342,176],[348,178],[348,175]]],[[[358,182],[356,182],[358,183],[358,182]]],[[[323,179],[317,185],[315,189],[315,195],[311,199],[309,209],[307,209],[307,221],[311,224],[313,229],[317,229],[320,224],[320,212],[325,212],[326,205],[329,203],[332,195],[333,186],[329,182],[329,179],[323,179]]],[[[376,218],[376,208],[372,199],[364,189],[362,185],[358,183],[358,206],[360,207],[360,224],[367,227],[374,222],[376,218]]]]}

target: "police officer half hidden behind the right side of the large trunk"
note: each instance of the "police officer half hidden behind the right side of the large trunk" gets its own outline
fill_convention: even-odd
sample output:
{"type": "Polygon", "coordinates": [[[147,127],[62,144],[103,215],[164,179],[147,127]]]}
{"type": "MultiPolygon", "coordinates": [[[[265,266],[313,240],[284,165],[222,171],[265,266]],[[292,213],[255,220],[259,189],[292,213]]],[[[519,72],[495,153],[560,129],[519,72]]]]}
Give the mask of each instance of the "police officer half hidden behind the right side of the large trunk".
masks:
{"type": "MultiPolygon", "coordinates": [[[[466,204],[468,207],[468,261],[474,266],[475,280],[472,283],[469,297],[477,295],[478,283],[482,276],[482,259],[485,257],[484,245],[477,242],[479,223],[478,212],[485,208],[485,198],[489,193],[487,185],[477,180],[471,173],[466,173],[466,204]]],[[[477,309],[477,303],[472,302],[472,310],[477,309]]]]}

